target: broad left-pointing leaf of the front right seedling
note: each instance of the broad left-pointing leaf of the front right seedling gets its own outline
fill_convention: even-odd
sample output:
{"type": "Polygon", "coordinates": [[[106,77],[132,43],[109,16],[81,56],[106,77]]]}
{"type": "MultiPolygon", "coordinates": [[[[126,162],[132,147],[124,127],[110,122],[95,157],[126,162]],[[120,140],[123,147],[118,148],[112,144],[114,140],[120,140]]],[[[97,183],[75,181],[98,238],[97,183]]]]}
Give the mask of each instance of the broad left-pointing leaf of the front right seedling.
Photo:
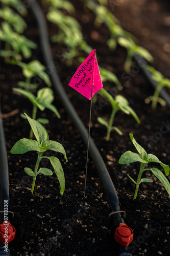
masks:
{"type": "Polygon", "coordinates": [[[144,161],[137,153],[133,153],[131,151],[125,152],[118,160],[118,163],[120,164],[128,164],[134,162],[141,162],[146,164],[148,163],[147,161],[144,161]]]}

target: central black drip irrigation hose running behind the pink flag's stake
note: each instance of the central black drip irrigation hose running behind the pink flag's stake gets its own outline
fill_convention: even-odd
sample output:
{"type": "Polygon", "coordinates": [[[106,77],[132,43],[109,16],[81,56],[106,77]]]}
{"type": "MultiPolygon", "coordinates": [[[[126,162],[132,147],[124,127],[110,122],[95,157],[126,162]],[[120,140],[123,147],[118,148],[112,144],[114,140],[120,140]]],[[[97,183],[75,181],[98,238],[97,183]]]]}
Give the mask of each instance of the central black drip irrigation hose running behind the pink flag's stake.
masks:
{"type": "MultiPolygon", "coordinates": [[[[28,2],[29,2],[29,0],[28,0],[28,2]]],[[[50,43],[48,41],[46,20],[41,11],[41,8],[36,3],[36,1],[31,2],[31,3],[29,2],[29,4],[30,4],[32,12],[34,13],[34,16],[37,20],[39,33],[40,33],[40,43],[41,43],[41,47],[42,47],[42,51],[43,51],[43,55],[44,55],[45,65],[46,65],[46,67],[51,68],[51,67],[53,67],[54,61],[52,59],[51,50],[50,50],[51,47],[50,47],[50,43]]],[[[76,110],[74,109],[74,106],[68,99],[56,70],[53,70],[53,72],[50,74],[50,77],[51,77],[53,87],[54,87],[55,91],[57,92],[57,94],[59,95],[65,110],[71,117],[75,126],[79,130],[82,139],[84,140],[85,144],[87,145],[88,132],[87,132],[83,122],[79,118],[76,110]]],[[[96,147],[94,142],[92,141],[91,137],[89,139],[89,153],[90,153],[90,156],[96,166],[96,169],[98,170],[103,187],[108,196],[108,201],[109,201],[110,207],[111,207],[112,211],[114,212],[115,226],[118,226],[120,223],[125,223],[123,218],[121,217],[120,205],[119,205],[119,201],[118,201],[118,197],[116,194],[114,184],[111,180],[111,177],[109,175],[107,167],[103,161],[103,158],[101,157],[101,154],[98,151],[98,148],[96,147]]],[[[119,245],[118,255],[119,256],[120,255],[121,256],[125,256],[125,255],[132,256],[132,254],[128,251],[128,247],[122,246],[122,245],[119,245]]]]}

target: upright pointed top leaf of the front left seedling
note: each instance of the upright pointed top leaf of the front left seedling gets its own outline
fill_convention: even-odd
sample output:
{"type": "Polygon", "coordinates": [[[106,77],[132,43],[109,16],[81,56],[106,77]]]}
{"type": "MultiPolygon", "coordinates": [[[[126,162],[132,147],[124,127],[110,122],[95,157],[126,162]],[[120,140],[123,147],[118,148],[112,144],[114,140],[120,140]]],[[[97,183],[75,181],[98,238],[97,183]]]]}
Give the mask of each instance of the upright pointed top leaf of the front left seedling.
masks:
{"type": "Polygon", "coordinates": [[[45,142],[49,139],[47,131],[45,128],[36,120],[30,118],[26,113],[24,113],[31,125],[33,133],[37,139],[37,141],[41,144],[41,142],[45,142]]]}

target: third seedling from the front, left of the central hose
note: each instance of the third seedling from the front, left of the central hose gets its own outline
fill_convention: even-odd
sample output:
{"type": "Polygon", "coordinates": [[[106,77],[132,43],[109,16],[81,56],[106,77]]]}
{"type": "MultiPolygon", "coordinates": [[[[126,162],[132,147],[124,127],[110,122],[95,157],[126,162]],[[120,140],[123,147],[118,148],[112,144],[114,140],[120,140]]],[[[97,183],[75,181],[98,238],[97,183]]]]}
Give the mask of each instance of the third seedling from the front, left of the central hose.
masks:
{"type": "MultiPolygon", "coordinates": [[[[45,67],[41,64],[39,60],[32,60],[29,63],[24,63],[21,61],[13,60],[12,64],[16,64],[19,67],[22,68],[22,73],[26,77],[26,81],[19,81],[18,86],[25,88],[27,91],[30,91],[32,89],[36,89],[38,87],[38,84],[31,83],[31,79],[33,77],[36,77],[34,80],[37,81],[37,76],[40,77],[44,82],[47,84],[48,87],[51,87],[51,81],[50,77],[45,73],[45,67]]],[[[38,80],[39,82],[39,80],[38,80]]]]}

